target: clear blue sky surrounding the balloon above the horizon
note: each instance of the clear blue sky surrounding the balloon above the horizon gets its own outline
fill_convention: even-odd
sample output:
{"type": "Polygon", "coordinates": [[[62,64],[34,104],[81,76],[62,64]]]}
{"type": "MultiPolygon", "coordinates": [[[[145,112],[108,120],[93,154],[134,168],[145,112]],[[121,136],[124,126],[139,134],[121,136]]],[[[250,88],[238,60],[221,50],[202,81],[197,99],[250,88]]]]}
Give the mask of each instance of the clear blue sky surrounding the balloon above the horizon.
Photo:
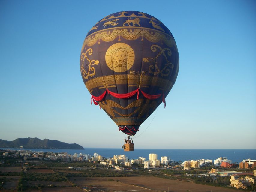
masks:
{"type": "Polygon", "coordinates": [[[96,22],[124,10],[161,20],[180,57],[166,108],[140,126],[135,149],[256,149],[256,1],[249,0],[1,0],[0,139],[122,147],[125,135],[91,105],[80,51],[96,22]]]}

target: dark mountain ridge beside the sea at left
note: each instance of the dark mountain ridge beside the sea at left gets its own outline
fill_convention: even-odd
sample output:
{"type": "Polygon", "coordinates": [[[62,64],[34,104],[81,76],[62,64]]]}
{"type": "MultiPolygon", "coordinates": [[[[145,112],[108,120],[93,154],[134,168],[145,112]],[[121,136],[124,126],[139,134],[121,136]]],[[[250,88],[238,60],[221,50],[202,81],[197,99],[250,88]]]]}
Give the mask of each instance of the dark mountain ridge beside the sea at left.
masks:
{"type": "Polygon", "coordinates": [[[0,139],[0,147],[2,148],[20,148],[24,149],[84,149],[77,143],[65,143],[58,140],[31,138],[17,138],[13,141],[0,139]]]}

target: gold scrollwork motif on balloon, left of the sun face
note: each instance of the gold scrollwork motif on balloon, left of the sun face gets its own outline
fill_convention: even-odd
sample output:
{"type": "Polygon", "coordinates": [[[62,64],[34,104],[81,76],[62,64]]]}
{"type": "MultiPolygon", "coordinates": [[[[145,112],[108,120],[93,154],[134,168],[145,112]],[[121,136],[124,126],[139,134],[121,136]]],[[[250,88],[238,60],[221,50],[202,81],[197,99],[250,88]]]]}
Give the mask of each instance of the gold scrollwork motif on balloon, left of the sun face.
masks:
{"type": "Polygon", "coordinates": [[[81,70],[81,73],[83,74],[83,78],[84,79],[88,79],[89,76],[90,77],[94,76],[95,75],[95,68],[91,67],[91,65],[98,65],[99,64],[98,60],[90,60],[87,57],[87,55],[86,55],[87,53],[88,53],[88,55],[92,55],[92,49],[89,48],[89,49],[86,50],[85,53],[81,54],[81,58],[80,59],[81,59],[81,61],[83,60],[83,62],[82,62],[82,65],[80,67],[80,70],[81,70]],[[85,61],[85,59],[89,62],[89,64],[88,64],[89,65],[88,72],[86,72],[86,70],[84,68],[84,61],[85,61]]]}

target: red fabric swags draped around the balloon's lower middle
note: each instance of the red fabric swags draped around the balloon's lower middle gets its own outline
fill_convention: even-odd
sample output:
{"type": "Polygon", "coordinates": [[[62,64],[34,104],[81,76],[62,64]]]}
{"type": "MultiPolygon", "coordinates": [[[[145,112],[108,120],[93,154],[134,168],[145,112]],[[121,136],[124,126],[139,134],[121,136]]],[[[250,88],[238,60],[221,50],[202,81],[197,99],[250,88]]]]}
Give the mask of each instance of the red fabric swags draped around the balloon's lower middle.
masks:
{"type": "MultiPolygon", "coordinates": [[[[120,94],[120,93],[114,93],[112,91],[109,91],[108,89],[106,89],[106,91],[104,91],[100,96],[93,96],[92,94],[92,97],[91,97],[91,104],[92,102],[95,104],[95,105],[98,105],[99,101],[104,101],[104,98],[106,96],[106,94],[108,93],[109,95],[112,95],[113,97],[115,98],[118,98],[118,99],[128,99],[132,96],[134,96],[136,93],[137,93],[137,99],[139,99],[139,91],[142,93],[142,95],[147,98],[147,99],[158,99],[161,97],[162,95],[162,102],[164,103],[164,108],[166,106],[166,101],[165,101],[165,96],[164,96],[164,92],[161,93],[161,94],[157,94],[157,95],[150,95],[150,94],[147,94],[145,93],[144,91],[142,91],[140,88],[137,88],[136,90],[134,91],[131,91],[130,93],[124,93],[124,94],[120,94]]],[[[101,107],[100,107],[101,108],[101,107]]]]}

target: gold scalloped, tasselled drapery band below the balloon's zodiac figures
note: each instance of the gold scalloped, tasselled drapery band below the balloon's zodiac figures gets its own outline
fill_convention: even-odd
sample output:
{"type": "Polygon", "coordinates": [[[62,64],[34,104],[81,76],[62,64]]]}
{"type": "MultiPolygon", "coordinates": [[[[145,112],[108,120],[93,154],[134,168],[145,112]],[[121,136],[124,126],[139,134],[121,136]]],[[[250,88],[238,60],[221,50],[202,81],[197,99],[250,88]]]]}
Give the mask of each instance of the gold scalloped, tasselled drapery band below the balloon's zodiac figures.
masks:
{"type": "MultiPolygon", "coordinates": [[[[134,28],[133,28],[134,29],[134,28]]],[[[154,29],[149,32],[149,29],[137,29],[135,28],[133,31],[128,28],[120,28],[120,29],[113,29],[112,32],[109,30],[104,30],[93,35],[89,35],[83,42],[82,50],[84,47],[92,46],[99,40],[110,42],[115,40],[117,37],[122,36],[126,40],[136,40],[140,37],[145,37],[148,41],[156,43],[159,41],[163,41],[169,47],[176,47],[176,43],[174,39],[170,35],[166,35],[162,32],[155,31],[154,29]],[[154,32],[153,32],[154,31],[154,32]]]]}

